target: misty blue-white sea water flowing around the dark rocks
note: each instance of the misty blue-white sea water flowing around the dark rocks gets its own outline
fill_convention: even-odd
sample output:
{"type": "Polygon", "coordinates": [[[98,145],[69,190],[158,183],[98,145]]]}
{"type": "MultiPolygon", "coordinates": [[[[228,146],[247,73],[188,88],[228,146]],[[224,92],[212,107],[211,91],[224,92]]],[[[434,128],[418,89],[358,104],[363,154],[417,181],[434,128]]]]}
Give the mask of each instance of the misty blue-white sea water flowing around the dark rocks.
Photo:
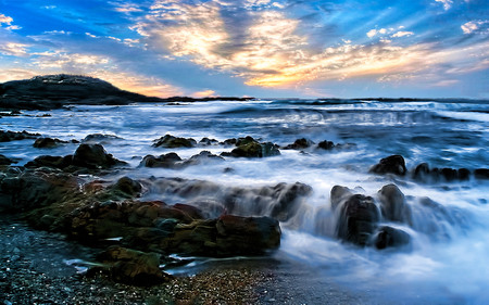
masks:
{"type": "MultiPolygon", "coordinates": [[[[280,223],[281,246],[274,255],[304,264],[347,290],[369,296],[367,303],[489,302],[489,181],[472,176],[463,181],[419,182],[410,175],[368,173],[380,158],[392,154],[403,155],[409,170],[423,162],[439,168],[489,167],[489,105],[485,102],[215,101],[79,105],[50,111],[51,116],[42,116],[45,113],[25,111],[20,116],[2,117],[0,128],[61,140],[82,140],[90,134],[116,136],[102,140],[102,144],[130,168],[116,171],[114,179],[123,175],[135,179],[179,177],[210,181],[223,190],[280,182],[311,186],[313,192],[301,201],[293,216],[280,223]],[[202,150],[215,154],[231,150],[223,145],[151,147],[153,140],[166,134],[197,141],[203,137],[224,141],[251,136],[279,145],[299,138],[346,145],[328,151],[280,150],[280,155],[266,158],[226,157],[224,162],[178,170],[138,167],[148,154],[176,152],[185,158],[202,150]],[[412,209],[412,226],[389,224],[411,236],[409,246],[379,251],[336,239],[331,188],[344,186],[375,199],[378,190],[389,183],[399,187],[412,209]],[[425,198],[436,203],[422,204],[425,198]]],[[[33,140],[12,141],[0,145],[0,154],[15,157],[17,165],[23,165],[38,155],[73,154],[77,145],[34,149],[33,140]]],[[[183,198],[152,189],[142,199],[197,203],[218,201],[220,193],[183,198]]],[[[246,204],[246,196],[241,201],[246,204]]],[[[249,204],[253,204],[252,195],[249,204]]],[[[253,211],[241,208],[236,213],[247,215],[253,211]]]]}

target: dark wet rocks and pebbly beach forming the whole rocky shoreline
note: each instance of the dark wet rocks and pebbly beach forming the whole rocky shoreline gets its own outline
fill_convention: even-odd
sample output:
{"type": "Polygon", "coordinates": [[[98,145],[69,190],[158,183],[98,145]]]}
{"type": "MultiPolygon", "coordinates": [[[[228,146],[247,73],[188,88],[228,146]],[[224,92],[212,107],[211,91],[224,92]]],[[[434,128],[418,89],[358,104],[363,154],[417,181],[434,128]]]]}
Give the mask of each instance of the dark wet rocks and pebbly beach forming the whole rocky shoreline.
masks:
{"type": "MultiPolygon", "coordinates": [[[[45,144],[65,144],[28,132],[2,131],[1,136],[3,141],[33,140],[35,149],[43,149],[45,144]]],[[[104,139],[103,135],[91,135],[80,141],[72,155],[41,155],[24,166],[15,166],[15,161],[8,156],[0,158],[0,211],[12,213],[33,228],[46,231],[32,233],[15,221],[2,223],[2,231],[5,231],[2,238],[13,240],[13,244],[2,249],[0,289],[5,295],[5,304],[259,304],[276,301],[275,297],[266,301],[260,293],[274,278],[274,272],[267,268],[214,266],[190,277],[174,277],[165,270],[192,262],[175,258],[173,254],[271,257],[280,245],[279,224],[296,216],[313,191],[310,186],[296,182],[230,188],[176,177],[133,179],[128,164],[109,154],[100,144],[104,139]],[[129,173],[129,176],[114,176],[118,170],[129,173]],[[145,200],[146,193],[161,194],[161,200],[145,200]],[[178,194],[188,201],[170,205],[163,201],[165,194],[178,194]],[[214,201],[193,200],[211,194],[214,201]],[[29,251],[25,244],[48,249],[46,251],[52,254],[57,246],[68,243],[48,232],[88,245],[91,249],[87,257],[91,263],[85,265],[89,267],[88,271],[79,276],[73,266],[60,267],[60,262],[57,266],[51,265],[60,270],[59,274],[50,274],[49,268],[36,268],[38,258],[26,255],[29,251]],[[22,240],[26,236],[28,240],[22,240]],[[34,238],[29,239],[29,236],[34,238]],[[46,244],[47,240],[51,242],[46,244]]],[[[308,139],[279,147],[251,137],[197,142],[191,138],[166,135],[153,141],[153,147],[165,150],[209,145],[220,145],[230,152],[214,155],[202,151],[187,160],[174,152],[147,155],[139,167],[177,171],[195,165],[212,166],[229,157],[273,157],[279,155],[280,150],[319,153],[354,149],[354,144],[335,144],[326,140],[316,144],[308,139]]],[[[401,155],[385,157],[368,171],[421,183],[471,177],[487,179],[485,168],[472,171],[465,168],[430,169],[421,164],[409,170],[401,155]]],[[[355,246],[410,251],[409,232],[383,223],[398,224],[410,230],[424,229],[413,225],[412,207],[393,183],[386,185],[373,195],[335,186],[329,204],[334,218],[319,211],[314,219],[315,233],[328,236],[324,227],[334,224],[333,238],[355,246]]],[[[459,221],[450,218],[450,213],[430,199],[419,199],[418,205],[443,221],[459,221]]],[[[46,258],[50,259],[49,256],[47,254],[46,258]]]]}

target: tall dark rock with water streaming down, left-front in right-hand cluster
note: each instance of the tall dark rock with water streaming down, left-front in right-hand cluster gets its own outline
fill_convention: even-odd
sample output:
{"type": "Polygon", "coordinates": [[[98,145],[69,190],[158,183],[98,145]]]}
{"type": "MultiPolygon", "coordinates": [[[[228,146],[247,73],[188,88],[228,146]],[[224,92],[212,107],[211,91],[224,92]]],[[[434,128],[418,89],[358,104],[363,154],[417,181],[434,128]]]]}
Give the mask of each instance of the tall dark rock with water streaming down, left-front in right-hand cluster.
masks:
{"type": "Polygon", "coordinates": [[[336,234],[339,239],[367,245],[379,220],[379,213],[371,196],[354,194],[337,205],[336,234]]]}

